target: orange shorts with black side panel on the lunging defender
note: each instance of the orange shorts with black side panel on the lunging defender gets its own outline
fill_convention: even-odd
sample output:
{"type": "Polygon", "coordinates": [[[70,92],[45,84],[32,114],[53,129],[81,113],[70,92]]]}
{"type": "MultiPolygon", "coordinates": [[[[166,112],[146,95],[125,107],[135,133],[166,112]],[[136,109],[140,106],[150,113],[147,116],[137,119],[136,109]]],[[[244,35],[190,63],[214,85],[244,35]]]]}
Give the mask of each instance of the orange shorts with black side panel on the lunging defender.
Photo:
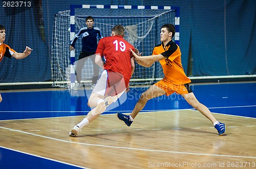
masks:
{"type": "Polygon", "coordinates": [[[174,85],[173,83],[161,79],[160,81],[156,82],[155,85],[158,88],[161,88],[162,90],[165,91],[166,96],[169,96],[171,94],[173,94],[174,92],[177,94],[188,94],[191,93],[192,90],[190,89],[188,84],[184,84],[184,85],[174,85]]]}

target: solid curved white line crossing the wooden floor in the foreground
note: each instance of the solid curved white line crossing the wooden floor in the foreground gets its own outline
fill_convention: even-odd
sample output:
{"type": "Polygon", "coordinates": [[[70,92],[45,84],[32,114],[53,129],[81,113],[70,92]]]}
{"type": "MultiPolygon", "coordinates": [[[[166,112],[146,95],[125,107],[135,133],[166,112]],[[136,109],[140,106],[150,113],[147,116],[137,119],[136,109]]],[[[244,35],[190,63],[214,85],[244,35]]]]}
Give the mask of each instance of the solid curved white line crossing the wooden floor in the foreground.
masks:
{"type": "Polygon", "coordinates": [[[59,142],[65,142],[65,143],[72,143],[72,144],[79,144],[79,145],[88,145],[88,146],[97,146],[97,147],[107,147],[107,148],[116,148],[116,149],[126,149],[126,150],[141,150],[141,151],[150,151],[150,152],[162,152],[162,153],[176,153],[176,154],[190,154],[190,155],[207,155],[207,156],[219,156],[219,157],[234,157],[234,158],[255,158],[256,157],[249,157],[249,156],[234,156],[234,155],[220,155],[220,154],[204,154],[204,153],[188,153],[188,152],[178,152],[178,151],[165,151],[165,150],[152,150],[152,149],[138,149],[138,148],[131,148],[131,147],[117,147],[117,146],[105,146],[105,145],[96,145],[96,144],[89,144],[89,143],[76,143],[76,142],[70,142],[67,140],[62,140],[62,139],[58,139],[58,138],[52,138],[52,137],[47,137],[44,135],[38,135],[38,134],[33,134],[33,133],[29,133],[29,132],[25,132],[25,131],[19,131],[19,130],[14,130],[14,129],[10,129],[10,128],[6,128],[6,127],[1,127],[2,129],[6,129],[6,130],[12,130],[12,131],[16,131],[16,132],[21,132],[21,133],[25,133],[25,134],[30,134],[30,135],[34,135],[34,136],[38,136],[38,137],[43,137],[43,138],[47,138],[47,139],[53,139],[59,142]]]}

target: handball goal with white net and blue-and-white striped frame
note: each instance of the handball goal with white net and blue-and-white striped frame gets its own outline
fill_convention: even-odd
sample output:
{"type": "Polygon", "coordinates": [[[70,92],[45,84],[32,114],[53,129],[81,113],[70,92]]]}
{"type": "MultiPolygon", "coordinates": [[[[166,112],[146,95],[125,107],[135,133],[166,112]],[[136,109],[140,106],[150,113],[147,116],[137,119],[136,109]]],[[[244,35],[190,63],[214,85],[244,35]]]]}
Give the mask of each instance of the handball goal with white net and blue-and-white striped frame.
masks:
{"type": "MultiPolygon", "coordinates": [[[[74,69],[81,50],[81,38],[76,41],[76,50],[69,51],[70,41],[78,30],[86,26],[86,17],[94,18],[94,26],[99,27],[103,37],[110,36],[113,26],[121,24],[125,28],[124,39],[138,48],[143,55],[151,55],[153,47],[160,42],[161,25],[166,23],[179,24],[177,10],[171,7],[146,7],[146,6],[71,6],[71,11],[61,11],[54,18],[54,32],[52,38],[52,78],[55,87],[68,87],[74,76],[74,69]],[[75,57],[75,58],[74,58],[75,57]],[[72,59],[73,58],[73,59],[72,59]]],[[[177,8],[177,7],[176,7],[177,8]]],[[[176,43],[179,33],[176,34],[176,43]]],[[[101,73],[101,72],[100,72],[101,73]]],[[[81,82],[91,83],[93,64],[90,59],[82,69],[81,82]]],[[[157,78],[162,78],[161,65],[156,62],[150,68],[145,68],[136,63],[135,71],[131,78],[131,85],[152,83],[157,78]]],[[[89,84],[88,84],[89,85],[89,84]]]]}

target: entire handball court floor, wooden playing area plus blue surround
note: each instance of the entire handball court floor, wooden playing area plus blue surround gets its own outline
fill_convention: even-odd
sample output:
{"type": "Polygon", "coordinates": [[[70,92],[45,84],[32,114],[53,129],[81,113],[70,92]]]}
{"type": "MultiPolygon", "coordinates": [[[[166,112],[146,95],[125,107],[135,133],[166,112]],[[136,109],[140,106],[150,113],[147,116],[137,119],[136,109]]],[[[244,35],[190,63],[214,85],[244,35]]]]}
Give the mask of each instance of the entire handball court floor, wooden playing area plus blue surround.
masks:
{"type": "MultiPolygon", "coordinates": [[[[149,101],[131,127],[118,120],[116,111],[121,110],[117,107],[82,128],[78,137],[70,137],[70,130],[86,113],[77,109],[78,104],[73,109],[63,109],[76,103],[86,104],[84,98],[77,97],[79,102],[72,102],[65,96],[67,90],[1,91],[0,166],[253,168],[256,167],[255,87],[255,81],[195,85],[198,100],[226,124],[223,136],[218,136],[211,122],[184,100],[178,101],[177,106],[176,98],[164,101],[164,97],[149,101]],[[245,93],[245,89],[252,92],[245,93]],[[46,102],[40,101],[44,95],[46,102]],[[52,97],[55,99],[49,99],[52,97]],[[7,106],[11,100],[13,108],[7,106]],[[35,105],[32,100],[40,104],[35,105]],[[53,106],[57,104],[67,107],[53,106]]],[[[135,103],[127,99],[120,107],[124,113],[130,113],[135,103]]]]}

